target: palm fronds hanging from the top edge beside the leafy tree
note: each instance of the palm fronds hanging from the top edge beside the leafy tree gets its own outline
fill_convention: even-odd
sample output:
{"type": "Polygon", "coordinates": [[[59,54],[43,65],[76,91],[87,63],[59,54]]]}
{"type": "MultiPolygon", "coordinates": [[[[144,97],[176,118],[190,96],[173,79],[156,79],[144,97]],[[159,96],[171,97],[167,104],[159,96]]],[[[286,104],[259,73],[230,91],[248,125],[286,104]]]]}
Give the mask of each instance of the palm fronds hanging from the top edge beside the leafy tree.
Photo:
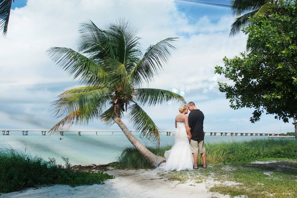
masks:
{"type": "Polygon", "coordinates": [[[229,37],[235,36],[250,23],[249,17],[267,15],[270,10],[277,8],[282,0],[232,0],[231,12],[237,16],[231,25],[229,37]],[[245,13],[245,14],[243,14],[245,13]]]}

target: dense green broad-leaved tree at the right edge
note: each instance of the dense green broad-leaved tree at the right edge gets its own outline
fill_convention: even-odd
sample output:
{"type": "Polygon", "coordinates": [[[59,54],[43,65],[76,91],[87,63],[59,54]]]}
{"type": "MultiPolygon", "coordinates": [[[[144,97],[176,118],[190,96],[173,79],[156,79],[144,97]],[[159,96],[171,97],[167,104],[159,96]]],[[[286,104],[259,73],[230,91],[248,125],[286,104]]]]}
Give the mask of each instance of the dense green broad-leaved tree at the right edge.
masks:
{"type": "Polygon", "coordinates": [[[297,115],[297,9],[296,4],[282,5],[282,13],[249,18],[251,24],[243,29],[248,34],[250,53],[232,59],[223,58],[223,74],[232,84],[219,82],[230,107],[254,108],[252,123],[261,114],[276,114],[276,119],[288,122],[293,118],[296,133],[297,115]]]}

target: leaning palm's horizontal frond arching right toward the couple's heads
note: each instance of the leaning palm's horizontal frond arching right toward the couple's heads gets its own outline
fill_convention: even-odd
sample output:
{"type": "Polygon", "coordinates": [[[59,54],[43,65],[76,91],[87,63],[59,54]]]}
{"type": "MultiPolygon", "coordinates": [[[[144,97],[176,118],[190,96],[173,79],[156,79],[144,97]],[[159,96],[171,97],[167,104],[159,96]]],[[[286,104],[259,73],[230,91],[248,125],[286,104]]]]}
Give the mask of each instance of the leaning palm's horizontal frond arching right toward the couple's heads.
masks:
{"type": "Polygon", "coordinates": [[[175,101],[186,104],[185,99],[177,93],[152,88],[139,88],[135,90],[136,101],[140,105],[161,105],[164,102],[175,101]]]}

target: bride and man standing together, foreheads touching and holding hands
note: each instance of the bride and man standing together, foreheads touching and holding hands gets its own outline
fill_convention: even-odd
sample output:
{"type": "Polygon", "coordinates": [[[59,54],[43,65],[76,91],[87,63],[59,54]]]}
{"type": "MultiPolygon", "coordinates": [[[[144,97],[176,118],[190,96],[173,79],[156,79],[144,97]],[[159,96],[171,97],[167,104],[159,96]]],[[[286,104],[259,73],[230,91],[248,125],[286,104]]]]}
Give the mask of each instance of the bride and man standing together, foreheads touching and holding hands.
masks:
{"type": "Polygon", "coordinates": [[[166,171],[198,169],[199,153],[206,168],[206,152],[204,148],[204,131],[202,111],[197,109],[194,102],[181,105],[175,117],[174,145],[165,152],[166,171]],[[186,115],[190,111],[189,117],[186,115]]]}

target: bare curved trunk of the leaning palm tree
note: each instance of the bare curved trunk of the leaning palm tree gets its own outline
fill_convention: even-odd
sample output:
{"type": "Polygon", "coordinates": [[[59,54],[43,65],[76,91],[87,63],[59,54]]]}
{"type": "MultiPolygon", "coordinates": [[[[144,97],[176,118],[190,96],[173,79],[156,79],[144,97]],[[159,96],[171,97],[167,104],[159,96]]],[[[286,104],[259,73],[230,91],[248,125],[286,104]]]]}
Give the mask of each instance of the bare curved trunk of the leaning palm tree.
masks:
{"type": "Polygon", "coordinates": [[[149,163],[151,163],[152,166],[157,167],[159,164],[161,164],[161,162],[166,161],[164,157],[157,156],[150,152],[149,149],[145,148],[145,146],[141,144],[141,142],[137,140],[135,136],[132,135],[120,118],[116,117],[114,121],[122,129],[125,136],[133,144],[133,146],[141,153],[142,156],[145,157],[145,159],[149,161],[149,163]]]}

